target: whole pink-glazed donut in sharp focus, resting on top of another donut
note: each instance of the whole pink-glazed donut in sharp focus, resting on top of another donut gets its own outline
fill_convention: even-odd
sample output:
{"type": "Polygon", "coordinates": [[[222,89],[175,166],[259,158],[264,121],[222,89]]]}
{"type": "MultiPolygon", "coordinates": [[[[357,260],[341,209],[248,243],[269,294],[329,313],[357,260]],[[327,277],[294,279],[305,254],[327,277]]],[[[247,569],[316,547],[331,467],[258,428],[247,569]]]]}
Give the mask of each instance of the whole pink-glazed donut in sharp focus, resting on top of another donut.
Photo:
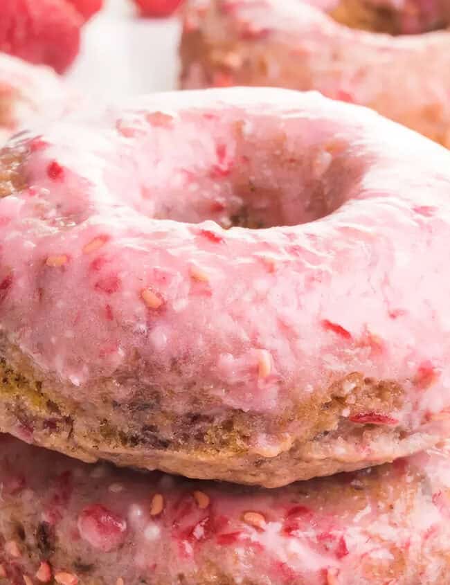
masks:
{"type": "Polygon", "coordinates": [[[447,150],[282,89],[35,134],[0,156],[2,431],[268,487],[450,435],[447,150]]]}

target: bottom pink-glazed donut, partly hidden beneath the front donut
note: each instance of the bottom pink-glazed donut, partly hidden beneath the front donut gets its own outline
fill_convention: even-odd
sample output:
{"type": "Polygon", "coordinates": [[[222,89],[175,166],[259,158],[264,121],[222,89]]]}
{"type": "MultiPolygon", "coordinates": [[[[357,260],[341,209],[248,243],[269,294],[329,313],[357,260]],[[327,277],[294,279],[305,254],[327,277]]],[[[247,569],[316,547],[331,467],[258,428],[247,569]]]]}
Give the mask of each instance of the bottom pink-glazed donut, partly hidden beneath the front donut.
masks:
{"type": "Polygon", "coordinates": [[[11,585],[450,584],[448,447],[264,490],[0,444],[11,585]]]}

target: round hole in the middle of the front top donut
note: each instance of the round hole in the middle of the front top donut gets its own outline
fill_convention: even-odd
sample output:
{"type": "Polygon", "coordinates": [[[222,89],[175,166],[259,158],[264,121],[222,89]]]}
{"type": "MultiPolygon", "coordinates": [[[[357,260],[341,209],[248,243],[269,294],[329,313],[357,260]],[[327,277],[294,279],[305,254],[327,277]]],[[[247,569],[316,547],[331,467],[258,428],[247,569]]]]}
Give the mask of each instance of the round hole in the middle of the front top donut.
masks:
{"type": "Polygon", "coordinates": [[[350,197],[360,165],[333,132],[317,136],[306,118],[276,124],[241,116],[206,118],[200,128],[179,120],[170,134],[179,152],[170,163],[167,150],[165,159],[156,152],[150,175],[149,161],[138,163],[138,210],[155,219],[264,229],[314,222],[350,197]]]}

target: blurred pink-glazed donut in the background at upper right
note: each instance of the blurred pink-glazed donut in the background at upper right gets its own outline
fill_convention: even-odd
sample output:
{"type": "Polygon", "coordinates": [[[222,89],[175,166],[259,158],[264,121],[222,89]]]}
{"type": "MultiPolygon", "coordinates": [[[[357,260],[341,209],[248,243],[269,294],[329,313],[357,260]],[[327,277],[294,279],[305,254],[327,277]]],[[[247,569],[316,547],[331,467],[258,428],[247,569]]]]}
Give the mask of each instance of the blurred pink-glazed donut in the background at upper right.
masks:
{"type": "Polygon", "coordinates": [[[393,36],[350,28],[406,33],[450,25],[448,0],[412,6],[415,12],[408,2],[389,0],[191,0],[181,87],[315,89],[450,147],[449,32],[393,36]],[[385,5],[399,8],[386,12],[385,5]]]}

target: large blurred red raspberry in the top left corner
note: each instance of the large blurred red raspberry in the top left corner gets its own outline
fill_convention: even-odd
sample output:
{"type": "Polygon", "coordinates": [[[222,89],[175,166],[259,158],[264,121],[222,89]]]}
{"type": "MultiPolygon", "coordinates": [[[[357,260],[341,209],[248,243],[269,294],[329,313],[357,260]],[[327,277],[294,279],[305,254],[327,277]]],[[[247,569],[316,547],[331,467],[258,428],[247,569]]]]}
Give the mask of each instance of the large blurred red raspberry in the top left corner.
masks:
{"type": "Polygon", "coordinates": [[[81,26],[66,0],[1,0],[0,51],[63,73],[78,55],[81,26]]]}

